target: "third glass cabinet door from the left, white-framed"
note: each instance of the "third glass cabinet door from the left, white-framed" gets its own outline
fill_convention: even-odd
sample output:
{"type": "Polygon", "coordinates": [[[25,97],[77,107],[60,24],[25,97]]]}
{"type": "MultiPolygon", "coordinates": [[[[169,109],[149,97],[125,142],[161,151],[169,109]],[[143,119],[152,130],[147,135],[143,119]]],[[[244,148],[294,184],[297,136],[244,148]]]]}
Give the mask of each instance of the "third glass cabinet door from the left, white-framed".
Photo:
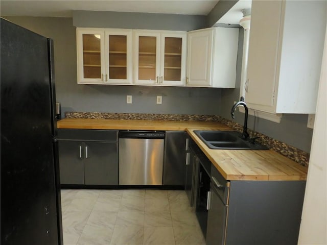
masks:
{"type": "Polygon", "coordinates": [[[136,79],[139,84],[156,84],[159,79],[159,38],[160,34],[146,35],[139,33],[136,51],[136,79]]]}

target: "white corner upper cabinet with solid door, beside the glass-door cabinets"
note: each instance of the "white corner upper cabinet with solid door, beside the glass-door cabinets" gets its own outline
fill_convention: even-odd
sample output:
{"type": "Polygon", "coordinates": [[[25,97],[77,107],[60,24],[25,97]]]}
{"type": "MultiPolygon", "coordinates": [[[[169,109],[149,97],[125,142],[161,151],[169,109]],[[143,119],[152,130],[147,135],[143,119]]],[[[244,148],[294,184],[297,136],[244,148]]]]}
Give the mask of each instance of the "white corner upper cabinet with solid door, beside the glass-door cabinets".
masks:
{"type": "Polygon", "coordinates": [[[239,29],[189,32],[186,86],[235,88],[239,29]]]}

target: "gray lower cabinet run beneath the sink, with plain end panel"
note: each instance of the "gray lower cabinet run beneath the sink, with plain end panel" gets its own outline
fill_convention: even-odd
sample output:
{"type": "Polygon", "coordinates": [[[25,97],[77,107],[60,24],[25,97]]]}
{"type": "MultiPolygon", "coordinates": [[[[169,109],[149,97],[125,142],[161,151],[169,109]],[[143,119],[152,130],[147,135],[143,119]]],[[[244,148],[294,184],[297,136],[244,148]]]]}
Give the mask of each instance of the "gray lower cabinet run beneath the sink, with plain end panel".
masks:
{"type": "Polygon", "coordinates": [[[297,244],[306,181],[226,180],[192,139],[189,152],[185,190],[207,245],[297,244]],[[201,169],[210,176],[206,200],[201,169]]]}

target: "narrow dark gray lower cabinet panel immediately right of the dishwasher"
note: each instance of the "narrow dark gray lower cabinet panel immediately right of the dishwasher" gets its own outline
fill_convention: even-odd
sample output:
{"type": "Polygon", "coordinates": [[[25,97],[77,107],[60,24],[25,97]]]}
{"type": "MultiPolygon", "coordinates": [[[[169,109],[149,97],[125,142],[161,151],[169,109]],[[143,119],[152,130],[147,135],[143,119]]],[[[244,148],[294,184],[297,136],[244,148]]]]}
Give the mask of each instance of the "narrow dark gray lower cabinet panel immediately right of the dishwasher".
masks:
{"type": "Polygon", "coordinates": [[[163,185],[184,186],[187,137],[184,131],[166,131],[163,185]]]}

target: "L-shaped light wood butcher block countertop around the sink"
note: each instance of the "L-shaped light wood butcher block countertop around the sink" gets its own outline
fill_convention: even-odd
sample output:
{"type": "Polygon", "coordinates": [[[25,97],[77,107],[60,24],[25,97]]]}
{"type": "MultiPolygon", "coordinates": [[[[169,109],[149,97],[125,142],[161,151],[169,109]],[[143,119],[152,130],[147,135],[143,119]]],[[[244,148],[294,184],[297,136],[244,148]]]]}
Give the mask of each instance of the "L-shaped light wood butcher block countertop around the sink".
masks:
{"type": "Polygon", "coordinates": [[[226,180],[306,180],[308,167],[271,150],[213,150],[194,130],[230,130],[212,121],[62,119],[58,129],[186,131],[226,180]]]}

